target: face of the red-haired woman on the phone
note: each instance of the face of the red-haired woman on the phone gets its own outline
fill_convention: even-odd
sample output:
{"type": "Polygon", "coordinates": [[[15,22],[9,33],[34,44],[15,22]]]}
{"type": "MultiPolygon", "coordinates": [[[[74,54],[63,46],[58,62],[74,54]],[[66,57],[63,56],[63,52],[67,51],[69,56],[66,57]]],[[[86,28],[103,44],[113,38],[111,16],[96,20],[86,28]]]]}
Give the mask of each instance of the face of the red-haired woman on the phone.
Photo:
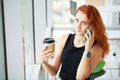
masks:
{"type": "Polygon", "coordinates": [[[74,26],[75,26],[75,33],[81,36],[83,36],[86,30],[88,29],[89,27],[88,18],[86,14],[84,14],[82,11],[77,12],[74,26]]]}

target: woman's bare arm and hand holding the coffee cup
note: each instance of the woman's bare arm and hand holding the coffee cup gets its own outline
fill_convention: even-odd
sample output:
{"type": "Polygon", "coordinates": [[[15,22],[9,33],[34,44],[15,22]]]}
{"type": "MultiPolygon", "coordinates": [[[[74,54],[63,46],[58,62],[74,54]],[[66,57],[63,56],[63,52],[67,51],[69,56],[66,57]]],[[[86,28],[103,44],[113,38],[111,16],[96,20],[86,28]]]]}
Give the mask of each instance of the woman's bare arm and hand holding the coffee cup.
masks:
{"type": "Polygon", "coordinates": [[[43,68],[52,76],[56,75],[61,63],[61,54],[67,40],[68,35],[63,35],[55,42],[55,56],[53,58],[52,64],[47,63],[45,60],[49,59],[50,56],[53,54],[50,51],[44,51],[44,49],[40,53],[40,61],[43,68]],[[46,55],[44,55],[47,53],[46,55]]]}

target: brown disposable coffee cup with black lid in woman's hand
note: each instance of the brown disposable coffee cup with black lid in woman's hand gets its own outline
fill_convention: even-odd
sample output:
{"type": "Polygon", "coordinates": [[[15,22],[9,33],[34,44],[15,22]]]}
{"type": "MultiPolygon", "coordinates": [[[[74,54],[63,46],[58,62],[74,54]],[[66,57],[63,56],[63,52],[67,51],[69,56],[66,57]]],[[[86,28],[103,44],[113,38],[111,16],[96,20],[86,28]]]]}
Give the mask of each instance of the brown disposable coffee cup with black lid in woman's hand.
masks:
{"type": "MultiPolygon", "coordinates": [[[[50,51],[55,51],[55,40],[53,38],[45,38],[43,40],[43,46],[45,49],[49,49],[50,51]]],[[[53,57],[53,56],[52,56],[53,57]]]]}

